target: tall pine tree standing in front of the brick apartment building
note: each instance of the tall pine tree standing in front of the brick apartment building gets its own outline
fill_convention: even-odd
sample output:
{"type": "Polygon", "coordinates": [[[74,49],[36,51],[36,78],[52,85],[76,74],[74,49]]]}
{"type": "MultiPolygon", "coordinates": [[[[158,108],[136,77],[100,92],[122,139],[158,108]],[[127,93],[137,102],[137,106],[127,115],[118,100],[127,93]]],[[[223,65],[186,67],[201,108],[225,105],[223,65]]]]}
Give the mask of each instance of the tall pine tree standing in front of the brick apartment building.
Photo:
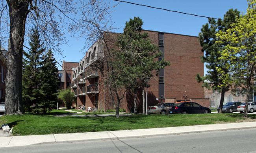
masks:
{"type": "Polygon", "coordinates": [[[164,59],[156,60],[162,53],[158,52],[158,46],[148,39],[148,33],[141,32],[142,25],[143,22],[139,17],[126,22],[123,34],[117,38],[117,46],[120,50],[113,50],[112,53],[119,85],[134,94],[134,113],[137,113],[137,90],[144,88],[144,79],[152,77],[153,71],[158,72],[160,68],[170,65],[170,62],[164,59]]]}

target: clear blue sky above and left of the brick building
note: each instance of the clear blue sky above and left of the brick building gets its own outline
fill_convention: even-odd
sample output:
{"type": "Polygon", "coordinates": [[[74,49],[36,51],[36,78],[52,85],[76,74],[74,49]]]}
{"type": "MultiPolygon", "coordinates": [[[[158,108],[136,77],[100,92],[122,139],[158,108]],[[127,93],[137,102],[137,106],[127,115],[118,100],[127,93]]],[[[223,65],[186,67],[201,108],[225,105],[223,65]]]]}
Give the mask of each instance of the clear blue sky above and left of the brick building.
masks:
{"type": "MultiPolygon", "coordinates": [[[[246,13],[247,0],[124,0],[136,4],[149,5],[172,11],[196,14],[212,18],[221,18],[228,9],[237,9],[241,13],[246,13]]],[[[187,14],[175,13],[154,9],[145,6],[138,6],[114,0],[106,0],[113,8],[112,21],[114,27],[118,27],[113,32],[122,33],[125,22],[139,16],[143,20],[142,28],[150,31],[168,32],[174,34],[184,34],[189,36],[198,36],[202,25],[208,23],[208,18],[202,18],[187,14]]],[[[63,57],[55,57],[59,61],[79,62],[84,56],[87,49],[82,50],[85,46],[84,39],[69,38],[69,45],[61,45],[64,50],[63,57]],[[80,51],[82,50],[82,51],[80,51]]],[[[199,50],[200,51],[200,50],[199,50]]],[[[62,63],[60,63],[62,64],[62,63]]],[[[61,66],[58,67],[61,70],[61,66]]],[[[206,73],[206,68],[205,72],[206,73]]]]}

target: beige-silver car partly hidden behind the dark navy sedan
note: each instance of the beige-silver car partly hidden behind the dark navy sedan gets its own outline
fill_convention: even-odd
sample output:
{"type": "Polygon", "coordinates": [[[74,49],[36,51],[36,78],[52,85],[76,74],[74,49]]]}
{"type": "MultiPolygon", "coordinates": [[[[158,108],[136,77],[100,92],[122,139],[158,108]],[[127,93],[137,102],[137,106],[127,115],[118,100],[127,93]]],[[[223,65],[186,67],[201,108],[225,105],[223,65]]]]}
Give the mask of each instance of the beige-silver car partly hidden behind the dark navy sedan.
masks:
{"type": "Polygon", "coordinates": [[[149,106],[148,113],[166,114],[173,105],[175,105],[175,103],[158,103],[155,106],[149,106]]]}

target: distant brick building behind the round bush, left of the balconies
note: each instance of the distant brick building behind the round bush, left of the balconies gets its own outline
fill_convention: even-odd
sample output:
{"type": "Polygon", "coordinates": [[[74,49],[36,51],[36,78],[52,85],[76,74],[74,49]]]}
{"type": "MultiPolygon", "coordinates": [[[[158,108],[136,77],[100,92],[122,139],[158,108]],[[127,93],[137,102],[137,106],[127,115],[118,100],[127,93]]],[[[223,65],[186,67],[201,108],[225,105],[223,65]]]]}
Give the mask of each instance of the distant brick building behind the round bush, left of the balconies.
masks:
{"type": "MultiPolygon", "coordinates": [[[[62,70],[59,70],[59,90],[71,87],[72,71],[78,67],[78,62],[62,62],[62,70]]],[[[59,101],[59,106],[64,106],[63,101],[59,101]]]]}

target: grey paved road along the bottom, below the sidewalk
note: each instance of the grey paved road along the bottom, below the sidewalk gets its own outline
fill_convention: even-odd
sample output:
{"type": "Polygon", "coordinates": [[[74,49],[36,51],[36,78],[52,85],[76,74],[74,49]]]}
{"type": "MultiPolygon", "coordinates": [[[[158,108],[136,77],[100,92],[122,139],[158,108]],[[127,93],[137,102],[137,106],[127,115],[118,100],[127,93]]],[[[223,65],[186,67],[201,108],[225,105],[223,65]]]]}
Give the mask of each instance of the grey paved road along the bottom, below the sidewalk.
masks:
{"type": "Polygon", "coordinates": [[[256,129],[1,148],[8,153],[255,153],[256,129]]]}

